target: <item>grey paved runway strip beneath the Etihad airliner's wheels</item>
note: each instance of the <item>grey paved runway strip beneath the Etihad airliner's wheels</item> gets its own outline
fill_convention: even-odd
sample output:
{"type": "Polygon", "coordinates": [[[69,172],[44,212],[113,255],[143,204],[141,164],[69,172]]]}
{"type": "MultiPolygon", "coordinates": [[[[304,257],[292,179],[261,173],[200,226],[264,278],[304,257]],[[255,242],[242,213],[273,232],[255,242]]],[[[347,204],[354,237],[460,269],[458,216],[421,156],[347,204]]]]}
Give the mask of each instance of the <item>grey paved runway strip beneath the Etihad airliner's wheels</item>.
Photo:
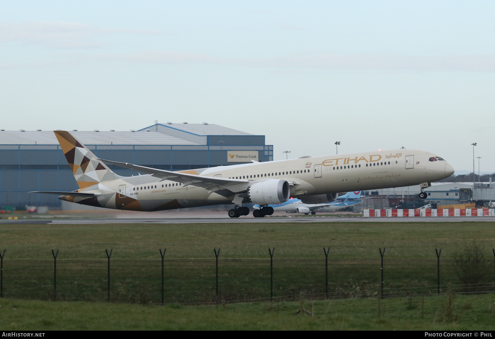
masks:
{"type": "Polygon", "coordinates": [[[18,219],[0,220],[0,225],[62,225],[62,224],[273,224],[273,223],[441,223],[495,222],[495,217],[265,217],[265,218],[95,218],[95,219],[18,219]]]}

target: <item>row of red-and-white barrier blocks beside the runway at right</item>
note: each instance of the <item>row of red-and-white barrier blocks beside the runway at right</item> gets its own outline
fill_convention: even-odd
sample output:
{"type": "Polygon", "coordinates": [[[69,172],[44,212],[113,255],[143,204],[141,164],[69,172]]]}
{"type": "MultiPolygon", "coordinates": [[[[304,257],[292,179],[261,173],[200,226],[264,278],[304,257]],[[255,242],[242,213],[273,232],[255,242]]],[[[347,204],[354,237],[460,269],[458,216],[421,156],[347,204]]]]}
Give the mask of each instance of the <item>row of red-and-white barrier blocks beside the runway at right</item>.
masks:
{"type": "Polygon", "coordinates": [[[363,217],[495,217],[493,208],[363,210],[363,217]]]}

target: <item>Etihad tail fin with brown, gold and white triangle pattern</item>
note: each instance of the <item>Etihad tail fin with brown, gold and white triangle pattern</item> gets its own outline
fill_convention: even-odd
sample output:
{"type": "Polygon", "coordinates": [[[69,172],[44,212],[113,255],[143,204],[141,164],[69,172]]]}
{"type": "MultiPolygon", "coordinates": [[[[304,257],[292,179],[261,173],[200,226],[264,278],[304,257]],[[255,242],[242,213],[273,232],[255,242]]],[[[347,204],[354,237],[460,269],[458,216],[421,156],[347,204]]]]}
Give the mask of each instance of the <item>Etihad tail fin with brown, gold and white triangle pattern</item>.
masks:
{"type": "Polygon", "coordinates": [[[79,188],[120,178],[67,131],[53,131],[79,188]]]}

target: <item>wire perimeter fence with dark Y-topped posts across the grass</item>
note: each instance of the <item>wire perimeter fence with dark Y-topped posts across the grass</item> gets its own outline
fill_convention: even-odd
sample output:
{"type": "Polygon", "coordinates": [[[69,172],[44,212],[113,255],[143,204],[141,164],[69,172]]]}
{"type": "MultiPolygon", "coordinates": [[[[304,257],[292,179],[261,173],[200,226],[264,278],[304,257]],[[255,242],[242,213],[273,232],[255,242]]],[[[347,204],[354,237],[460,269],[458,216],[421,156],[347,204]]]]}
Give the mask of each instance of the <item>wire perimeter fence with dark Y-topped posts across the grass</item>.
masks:
{"type": "MultiPolygon", "coordinates": [[[[213,252],[213,251],[212,251],[213,252]]],[[[108,252],[111,253],[111,252],[108,252]]],[[[495,252],[494,252],[495,253],[495,252]]],[[[8,254],[8,252],[7,252],[8,254]]],[[[213,253],[212,253],[213,254],[213,253]]],[[[123,303],[201,304],[311,298],[487,293],[494,260],[469,269],[454,259],[17,260],[1,256],[2,297],[123,303]],[[163,268],[162,268],[163,267],[163,268]],[[218,270],[217,270],[218,267],[218,270]],[[383,272],[383,281],[381,279],[383,272]],[[480,273],[481,272],[481,273],[480,273]],[[218,292],[217,292],[218,291],[218,292]]]]}

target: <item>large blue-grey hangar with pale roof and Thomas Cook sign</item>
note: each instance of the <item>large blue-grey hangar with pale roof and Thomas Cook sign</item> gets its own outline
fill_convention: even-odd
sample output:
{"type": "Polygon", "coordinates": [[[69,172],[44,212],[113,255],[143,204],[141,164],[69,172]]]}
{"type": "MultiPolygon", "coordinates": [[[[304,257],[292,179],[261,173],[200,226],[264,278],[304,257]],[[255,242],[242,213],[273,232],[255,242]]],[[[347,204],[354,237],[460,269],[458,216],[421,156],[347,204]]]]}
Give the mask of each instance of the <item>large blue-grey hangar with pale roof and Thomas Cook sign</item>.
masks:
{"type": "MultiPolygon", "coordinates": [[[[264,135],[207,122],[167,122],[139,130],[71,133],[101,159],[156,169],[198,169],[250,162],[235,162],[236,158],[229,157],[234,151],[257,155],[258,161],[273,161],[273,145],[265,145],[264,135]]],[[[109,168],[124,176],[138,175],[114,165],[109,168]]],[[[52,131],[0,130],[0,206],[59,208],[61,201],[56,195],[28,192],[77,188],[52,131]]]]}

